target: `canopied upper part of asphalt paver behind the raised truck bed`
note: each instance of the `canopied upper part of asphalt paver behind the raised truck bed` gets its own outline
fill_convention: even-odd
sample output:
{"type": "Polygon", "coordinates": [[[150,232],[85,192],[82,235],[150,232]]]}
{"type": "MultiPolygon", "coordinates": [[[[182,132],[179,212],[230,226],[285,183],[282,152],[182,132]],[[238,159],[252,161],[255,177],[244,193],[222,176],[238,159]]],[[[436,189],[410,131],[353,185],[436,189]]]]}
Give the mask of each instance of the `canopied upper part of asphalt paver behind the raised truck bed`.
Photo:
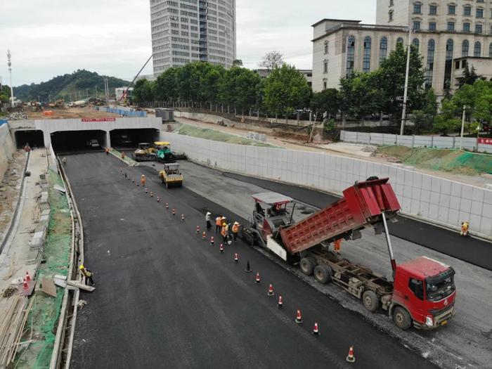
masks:
{"type": "Polygon", "coordinates": [[[261,239],[267,240],[268,235],[276,235],[280,227],[292,223],[292,213],[295,207],[294,200],[280,193],[257,193],[253,195],[254,211],[252,224],[261,239]],[[291,205],[292,207],[288,206],[291,205]]]}

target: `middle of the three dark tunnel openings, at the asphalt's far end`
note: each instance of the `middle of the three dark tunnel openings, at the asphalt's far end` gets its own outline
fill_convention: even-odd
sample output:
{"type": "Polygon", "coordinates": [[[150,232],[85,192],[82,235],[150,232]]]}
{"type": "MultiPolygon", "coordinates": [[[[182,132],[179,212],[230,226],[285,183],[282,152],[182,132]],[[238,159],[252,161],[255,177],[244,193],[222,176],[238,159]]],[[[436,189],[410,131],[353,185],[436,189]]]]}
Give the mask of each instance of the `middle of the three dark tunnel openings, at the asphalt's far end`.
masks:
{"type": "Polygon", "coordinates": [[[103,150],[105,131],[60,131],[51,134],[51,145],[56,153],[79,153],[103,150]]]}

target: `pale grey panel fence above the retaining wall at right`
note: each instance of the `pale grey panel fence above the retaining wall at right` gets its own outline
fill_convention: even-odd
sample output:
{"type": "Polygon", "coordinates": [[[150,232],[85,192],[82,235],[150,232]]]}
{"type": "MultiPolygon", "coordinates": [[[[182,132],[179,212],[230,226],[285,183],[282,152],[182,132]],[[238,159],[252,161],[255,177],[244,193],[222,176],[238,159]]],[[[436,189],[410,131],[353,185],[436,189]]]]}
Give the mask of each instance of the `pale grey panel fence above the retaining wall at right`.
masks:
{"type": "Polygon", "coordinates": [[[450,148],[492,153],[492,145],[478,143],[477,138],[441,136],[401,136],[399,134],[373,134],[340,131],[340,141],[367,143],[368,145],[400,145],[409,148],[450,148]]]}

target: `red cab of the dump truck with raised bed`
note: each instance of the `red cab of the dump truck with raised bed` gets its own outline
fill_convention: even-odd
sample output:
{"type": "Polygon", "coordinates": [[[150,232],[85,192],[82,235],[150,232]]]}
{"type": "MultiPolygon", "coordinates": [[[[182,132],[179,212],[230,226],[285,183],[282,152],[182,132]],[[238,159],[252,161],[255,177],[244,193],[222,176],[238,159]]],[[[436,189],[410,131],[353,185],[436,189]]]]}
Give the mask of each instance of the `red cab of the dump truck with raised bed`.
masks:
{"type": "Polygon", "coordinates": [[[433,329],[448,323],[455,314],[455,271],[451,266],[429,257],[417,257],[396,265],[390,313],[400,328],[413,325],[433,329]],[[401,306],[408,312],[396,313],[401,306]]]}

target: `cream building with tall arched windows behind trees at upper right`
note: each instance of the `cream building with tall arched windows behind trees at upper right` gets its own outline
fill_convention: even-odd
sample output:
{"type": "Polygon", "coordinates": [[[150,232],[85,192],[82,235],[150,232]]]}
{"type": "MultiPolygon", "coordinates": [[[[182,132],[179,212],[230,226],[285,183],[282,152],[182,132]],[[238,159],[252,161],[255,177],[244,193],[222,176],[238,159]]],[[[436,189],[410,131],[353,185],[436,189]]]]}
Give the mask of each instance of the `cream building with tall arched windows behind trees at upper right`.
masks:
{"type": "MultiPolygon", "coordinates": [[[[426,88],[438,96],[455,89],[455,59],[492,58],[490,1],[377,0],[376,14],[376,25],[330,19],[313,25],[313,91],[337,88],[339,79],[353,71],[376,70],[397,42],[408,43],[409,24],[411,42],[423,58],[426,88]]],[[[492,72],[488,65],[481,63],[484,75],[492,72]]]]}

